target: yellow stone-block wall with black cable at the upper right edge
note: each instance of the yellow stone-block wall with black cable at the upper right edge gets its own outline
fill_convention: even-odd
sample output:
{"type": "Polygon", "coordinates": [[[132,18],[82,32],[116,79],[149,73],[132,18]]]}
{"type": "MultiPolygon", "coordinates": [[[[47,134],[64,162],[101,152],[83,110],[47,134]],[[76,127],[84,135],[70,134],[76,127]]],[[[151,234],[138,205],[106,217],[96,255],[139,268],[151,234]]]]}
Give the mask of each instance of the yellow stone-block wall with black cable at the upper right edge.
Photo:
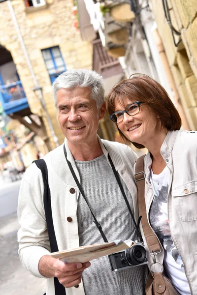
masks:
{"type": "Polygon", "coordinates": [[[151,0],[165,53],[191,129],[197,130],[197,0],[167,0],[172,25],[181,32],[175,41],[164,16],[162,1],[151,0]]]}

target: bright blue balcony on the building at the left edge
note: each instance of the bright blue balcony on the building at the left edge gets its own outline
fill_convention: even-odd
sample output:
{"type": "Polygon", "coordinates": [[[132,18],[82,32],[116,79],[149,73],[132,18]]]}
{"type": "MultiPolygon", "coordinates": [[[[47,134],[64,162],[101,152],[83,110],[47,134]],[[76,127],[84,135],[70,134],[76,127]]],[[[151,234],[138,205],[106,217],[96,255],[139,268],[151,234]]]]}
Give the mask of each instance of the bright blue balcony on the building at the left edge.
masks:
{"type": "Polygon", "coordinates": [[[1,85],[0,102],[7,115],[29,108],[21,81],[1,85]]]}

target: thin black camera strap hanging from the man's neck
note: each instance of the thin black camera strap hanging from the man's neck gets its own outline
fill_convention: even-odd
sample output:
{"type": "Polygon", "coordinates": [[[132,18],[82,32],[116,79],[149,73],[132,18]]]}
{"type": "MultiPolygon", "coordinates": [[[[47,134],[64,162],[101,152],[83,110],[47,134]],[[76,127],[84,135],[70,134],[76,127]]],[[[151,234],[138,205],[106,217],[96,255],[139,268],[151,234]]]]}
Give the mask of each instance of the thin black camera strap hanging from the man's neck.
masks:
{"type": "MultiPolygon", "coordinates": [[[[106,149],[106,148],[105,148],[105,149],[106,149]]],[[[66,162],[67,162],[67,164],[68,164],[68,167],[69,167],[69,169],[70,169],[70,172],[71,172],[71,174],[72,174],[72,176],[73,176],[73,178],[74,178],[74,180],[75,180],[75,182],[76,182],[76,185],[78,186],[78,189],[79,189],[81,195],[83,196],[83,198],[84,198],[86,204],[88,205],[88,207],[89,207],[89,209],[90,209],[90,211],[91,211],[91,214],[92,214],[92,216],[93,216],[93,218],[94,218],[94,223],[96,224],[96,226],[97,226],[97,228],[98,228],[98,230],[99,230],[99,232],[100,232],[100,234],[101,234],[101,236],[102,236],[104,242],[108,242],[108,240],[107,240],[105,234],[104,234],[103,231],[102,231],[102,227],[101,227],[101,225],[100,225],[99,222],[97,221],[97,218],[95,217],[95,215],[94,215],[92,209],[90,208],[90,206],[89,206],[89,204],[88,204],[88,201],[87,201],[87,199],[86,199],[86,197],[85,197],[85,195],[84,195],[83,189],[82,189],[82,187],[81,187],[81,184],[80,184],[79,181],[78,181],[78,178],[76,177],[76,174],[75,174],[75,172],[74,172],[74,170],[73,170],[73,168],[72,168],[72,165],[71,165],[70,161],[68,161],[68,159],[67,159],[67,152],[66,152],[65,145],[64,145],[64,153],[65,153],[66,162]]],[[[116,180],[117,180],[117,182],[118,182],[118,185],[119,185],[119,187],[120,187],[120,190],[121,190],[121,192],[122,192],[123,198],[124,198],[124,200],[125,200],[125,202],[126,202],[126,205],[127,205],[128,209],[129,209],[129,211],[130,211],[130,214],[131,214],[131,217],[132,217],[132,220],[133,220],[133,223],[134,223],[134,227],[135,227],[135,229],[136,229],[136,231],[137,231],[137,234],[138,234],[138,236],[139,236],[139,238],[140,238],[140,241],[143,242],[143,239],[142,239],[141,233],[139,232],[139,230],[138,230],[138,228],[137,228],[137,225],[136,225],[136,222],[135,222],[134,216],[133,216],[132,211],[131,211],[131,207],[130,207],[130,205],[129,205],[129,202],[128,202],[127,196],[126,196],[126,194],[125,194],[125,191],[124,191],[124,189],[123,189],[122,183],[121,183],[121,181],[120,181],[120,178],[119,178],[118,172],[117,172],[116,169],[115,169],[115,166],[114,166],[114,164],[113,164],[113,162],[112,162],[112,159],[111,159],[109,153],[108,153],[108,159],[109,159],[109,162],[110,162],[110,164],[111,164],[111,167],[112,167],[113,173],[114,173],[114,175],[115,175],[115,177],[116,177],[116,180]]],[[[131,233],[131,234],[132,234],[132,233],[131,233]]]]}

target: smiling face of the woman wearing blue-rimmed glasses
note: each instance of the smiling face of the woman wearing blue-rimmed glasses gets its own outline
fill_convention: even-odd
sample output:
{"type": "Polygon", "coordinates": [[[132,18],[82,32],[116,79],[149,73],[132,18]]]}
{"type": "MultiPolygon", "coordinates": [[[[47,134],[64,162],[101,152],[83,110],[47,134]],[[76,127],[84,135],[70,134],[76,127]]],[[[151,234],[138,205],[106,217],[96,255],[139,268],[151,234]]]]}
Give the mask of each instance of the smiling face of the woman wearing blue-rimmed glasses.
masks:
{"type": "MultiPolygon", "coordinates": [[[[116,98],[115,112],[123,111],[123,105],[127,107],[133,102],[134,101],[125,98],[123,104],[120,104],[116,98]]],[[[152,107],[143,103],[140,105],[140,111],[138,114],[129,116],[124,113],[122,122],[118,123],[118,128],[131,142],[138,143],[146,147],[147,143],[150,140],[155,139],[155,136],[157,136],[161,128],[161,121],[152,107]]]]}

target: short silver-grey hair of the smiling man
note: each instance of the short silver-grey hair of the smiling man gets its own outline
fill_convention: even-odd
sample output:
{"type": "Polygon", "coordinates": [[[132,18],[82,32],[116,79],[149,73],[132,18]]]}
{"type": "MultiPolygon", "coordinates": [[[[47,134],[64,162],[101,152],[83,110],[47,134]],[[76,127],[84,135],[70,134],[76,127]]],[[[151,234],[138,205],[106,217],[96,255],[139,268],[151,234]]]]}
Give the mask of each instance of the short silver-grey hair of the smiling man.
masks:
{"type": "Polygon", "coordinates": [[[73,69],[62,73],[53,83],[54,103],[57,108],[57,92],[59,89],[73,89],[89,87],[90,97],[96,100],[99,111],[104,102],[103,78],[95,71],[85,69],[73,69]]]}

